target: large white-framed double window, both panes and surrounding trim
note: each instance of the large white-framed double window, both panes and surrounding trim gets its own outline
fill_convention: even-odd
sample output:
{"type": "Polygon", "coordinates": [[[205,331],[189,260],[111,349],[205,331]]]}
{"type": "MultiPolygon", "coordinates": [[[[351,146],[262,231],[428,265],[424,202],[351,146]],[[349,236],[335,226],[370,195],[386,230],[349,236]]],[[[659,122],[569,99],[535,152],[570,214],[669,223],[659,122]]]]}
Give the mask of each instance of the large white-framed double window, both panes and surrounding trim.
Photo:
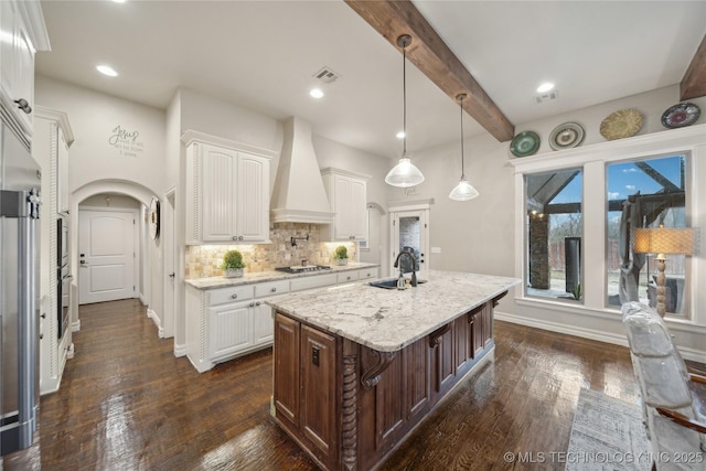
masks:
{"type": "MultiPolygon", "coordinates": [[[[681,325],[706,325],[706,296],[698,289],[706,279],[706,258],[704,249],[698,248],[706,246],[706,185],[696,184],[706,179],[705,129],[706,126],[692,126],[521,159],[511,158],[509,163],[514,168],[515,183],[515,276],[523,280],[515,290],[514,314],[533,319],[537,324],[547,322],[552,329],[556,325],[598,331],[610,329],[620,334],[617,278],[621,263],[618,253],[620,203],[629,201],[640,190],[640,195],[652,195],[650,197],[656,201],[655,206],[644,206],[650,216],[642,218],[641,225],[657,227],[663,223],[667,227],[702,228],[700,233],[695,232],[697,246],[694,255],[685,259],[678,255],[666,255],[666,277],[671,279],[675,295],[670,302],[676,311],[668,313],[667,309],[667,319],[677,320],[681,325]],[[574,172],[577,172],[576,176],[570,179],[574,172]],[[561,185],[553,183],[553,180],[564,181],[566,185],[559,189],[561,185]],[[545,185],[543,194],[539,190],[544,182],[549,186],[545,185]],[[576,186],[573,189],[573,185],[576,186]],[[634,185],[634,189],[628,185],[634,185]],[[531,282],[531,272],[534,277],[535,270],[543,269],[538,255],[533,255],[530,248],[532,211],[549,217],[544,268],[548,287],[545,285],[543,288],[532,286],[536,281],[534,278],[531,282]],[[568,221],[571,218],[576,228],[561,233],[561,223],[565,227],[570,226],[568,221]],[[580,239],[576,242],[571,237],[580,239]],[[549,247],[557,238],[565,238],[564,248],[555,249],[563,250],[564,258],[550,264],[549,247]],[[578,251],[577,271],[566,257],[567,244],[578,251]],[[566,281],[576,272],[575,278],[581,287],[580,301],[574,300],[566,288],[566,281]],[[596,317],[599,321],[593,325],[585,315],[596,317]]],[[[641,204],[646,205],[648,200],[642,197],[641,204]]],[[[537,236],[536,232],[534,236],[537,236]]],[[[542,248],[534,242],[534,249],[537,247],[542,248]]],[[[653,255],[645,256],[645,264],[639,272],[638,299],[650,302],[651,278],[655,272],[653,255]]]]}

